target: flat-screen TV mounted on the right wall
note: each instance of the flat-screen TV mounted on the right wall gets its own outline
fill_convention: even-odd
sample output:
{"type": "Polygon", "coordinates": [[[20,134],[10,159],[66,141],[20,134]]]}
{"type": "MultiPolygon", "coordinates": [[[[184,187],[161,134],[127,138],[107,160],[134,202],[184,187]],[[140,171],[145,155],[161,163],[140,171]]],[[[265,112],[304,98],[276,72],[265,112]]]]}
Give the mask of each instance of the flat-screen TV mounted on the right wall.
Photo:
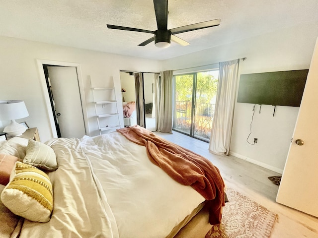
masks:
{"type": "Polygon", "coordinates": [[[308,71],[241,74],[238,103],[299,107],[308,71]]]}

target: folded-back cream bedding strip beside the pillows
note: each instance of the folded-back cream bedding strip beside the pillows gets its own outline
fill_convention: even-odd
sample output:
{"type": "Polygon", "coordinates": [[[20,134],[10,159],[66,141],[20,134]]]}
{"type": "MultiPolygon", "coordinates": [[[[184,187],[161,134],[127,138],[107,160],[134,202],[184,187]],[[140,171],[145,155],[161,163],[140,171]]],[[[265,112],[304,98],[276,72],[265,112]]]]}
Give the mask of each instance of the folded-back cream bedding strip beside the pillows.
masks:
{"type": "Polygon", "coordinates": [[[52,139],[47,145],[59,165],[48,173],[54,193],[51,220],[41,225],[25,220],[20,238],[118,238],[79,139],[52,139]]]}

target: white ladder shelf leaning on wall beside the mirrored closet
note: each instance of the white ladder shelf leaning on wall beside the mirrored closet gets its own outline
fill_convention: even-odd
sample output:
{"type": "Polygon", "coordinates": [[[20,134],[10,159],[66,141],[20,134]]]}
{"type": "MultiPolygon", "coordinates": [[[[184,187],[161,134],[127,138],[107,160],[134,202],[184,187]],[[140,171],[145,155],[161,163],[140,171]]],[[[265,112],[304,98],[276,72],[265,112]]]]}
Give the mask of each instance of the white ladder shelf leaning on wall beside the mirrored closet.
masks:
{"type": "MultiPolygon", "coordinates": [[[[91,82],[90,82],[91,84],[91,82]]],[[[114,82],[112,87],[92,87],[99,134],[121,128],[114,82]]]]}

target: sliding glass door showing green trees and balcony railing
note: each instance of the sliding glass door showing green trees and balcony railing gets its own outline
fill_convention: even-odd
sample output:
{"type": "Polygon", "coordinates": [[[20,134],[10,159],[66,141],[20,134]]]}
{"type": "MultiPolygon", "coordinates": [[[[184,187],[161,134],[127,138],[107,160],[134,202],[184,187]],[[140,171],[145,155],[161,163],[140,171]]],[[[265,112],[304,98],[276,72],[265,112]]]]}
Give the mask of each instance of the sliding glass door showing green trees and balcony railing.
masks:
{"type": "Polygon", "coordinates": [[[209,141],[218,77],[218,70],[174,75],[174,130],[209,141]]]}

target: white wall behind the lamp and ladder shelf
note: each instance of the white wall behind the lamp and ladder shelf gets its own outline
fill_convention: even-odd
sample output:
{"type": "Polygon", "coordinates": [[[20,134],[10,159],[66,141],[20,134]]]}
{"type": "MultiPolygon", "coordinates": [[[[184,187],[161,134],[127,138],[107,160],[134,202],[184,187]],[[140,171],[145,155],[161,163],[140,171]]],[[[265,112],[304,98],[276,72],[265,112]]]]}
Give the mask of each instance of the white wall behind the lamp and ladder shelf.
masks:
{"type": "MultiPolygon", "coordinates": [[[[97,135],[97,121],[93,117],[92,92],[89,76],[94,87],[104,87],[114,80],[116,97],[119,100],[118,109],[122,114],[120,70],[131,71],[160,71],[157,60],[126,57],[101,52],[87,51],[70,47],[61,47],[0,37],[0,100],[19,99],[25,101],[29,117],[19,119],[26,121],[30,127],[38,127],[41,141],[52,138],[51,125],[46,102],[45,90],[41,86],[37,59],[79,63],[83,81],[84,98],[88,117],[88,135],[97,135]],[[97,85],[98,84],[98,85],[97,85]]],[[[70,89],[72,90],[72,89],[70,89]]],[[[85,112],[84,112],[85,113],[85,112]]],[[[120,117],[123,125],[123,117],[120,117]]],[[[8,121],[1,121],[1,127],[8,121]]],[[[0,124],[0,125],[1,125],[0,124]]]]}

